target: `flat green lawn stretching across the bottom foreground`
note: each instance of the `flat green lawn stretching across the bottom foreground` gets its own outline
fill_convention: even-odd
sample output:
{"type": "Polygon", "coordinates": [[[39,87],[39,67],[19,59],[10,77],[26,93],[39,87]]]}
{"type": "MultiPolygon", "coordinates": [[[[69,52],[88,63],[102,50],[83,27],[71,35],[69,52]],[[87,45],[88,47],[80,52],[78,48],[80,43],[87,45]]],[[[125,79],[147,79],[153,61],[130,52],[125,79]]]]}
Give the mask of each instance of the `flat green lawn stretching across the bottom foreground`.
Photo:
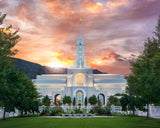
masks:
{"type": "Polygon", "coordinates": [[[0,128],[160,128],[160,119],[143,117],[114,118],[8,118],[0,128]]]}

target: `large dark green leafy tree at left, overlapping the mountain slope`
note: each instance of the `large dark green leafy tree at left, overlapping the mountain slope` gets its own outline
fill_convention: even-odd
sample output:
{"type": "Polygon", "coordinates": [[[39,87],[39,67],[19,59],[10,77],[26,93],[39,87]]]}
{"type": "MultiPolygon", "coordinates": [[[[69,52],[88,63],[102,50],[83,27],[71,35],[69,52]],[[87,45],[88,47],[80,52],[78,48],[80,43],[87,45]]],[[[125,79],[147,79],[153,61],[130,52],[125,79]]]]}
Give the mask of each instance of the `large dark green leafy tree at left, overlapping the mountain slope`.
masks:
{"type": "MultiPolygon", "coordinates": [[[[30,99],[26,101],[32,102],[38,94],[32,81],[22,71],[18,71],[12,62],[12,57],[17,53],[13,47],[20,37],[17,35],[18,30],[11,31],[11,25],[6,28],[1,27],[5,16],[6,14],[0,14],[0,102],[4,107],[3,119],[5,119],[5,112],[14,111],[15,107],[19,108],[19,97],[22,101],[30,99]],[[24,93],[21,93],[22,90],[24,93]]],[[[29,102],[25,102],[24,107],[27,107],[27,110],[29,110],[28,106],[29,102]]]]}

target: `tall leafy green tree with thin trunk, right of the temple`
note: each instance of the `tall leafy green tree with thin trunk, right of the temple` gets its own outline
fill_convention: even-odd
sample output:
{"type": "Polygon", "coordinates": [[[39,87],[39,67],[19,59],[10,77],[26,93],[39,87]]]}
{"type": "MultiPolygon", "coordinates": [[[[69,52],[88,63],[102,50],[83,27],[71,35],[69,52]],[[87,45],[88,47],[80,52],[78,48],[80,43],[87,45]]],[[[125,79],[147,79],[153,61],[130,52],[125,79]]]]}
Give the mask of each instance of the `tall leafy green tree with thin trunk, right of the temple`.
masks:
{"type": "Polygon", "coordinates": [[[129,92],[141,96],[146,102],[147,118],[149,104],[160,100],[160,17],[154,33],[156,37],[148,38],[143,53],[131,62],[132,75],[127,79],[129,92]]]}

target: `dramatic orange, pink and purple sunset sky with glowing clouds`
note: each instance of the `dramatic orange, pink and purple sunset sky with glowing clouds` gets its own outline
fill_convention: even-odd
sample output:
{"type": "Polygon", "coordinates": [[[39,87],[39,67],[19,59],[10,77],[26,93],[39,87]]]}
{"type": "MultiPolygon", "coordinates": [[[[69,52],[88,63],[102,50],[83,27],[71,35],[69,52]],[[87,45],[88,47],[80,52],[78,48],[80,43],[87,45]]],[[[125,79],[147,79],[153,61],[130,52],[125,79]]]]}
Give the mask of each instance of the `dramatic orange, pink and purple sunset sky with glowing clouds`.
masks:
{"type": "Polygon", "coordinates": [[[0,0],[4,26],[20,28],[15,56],[68,67],[76,55],[79,19],[88,65],[128,74],[160,15],[160,0],[0,0]]]}

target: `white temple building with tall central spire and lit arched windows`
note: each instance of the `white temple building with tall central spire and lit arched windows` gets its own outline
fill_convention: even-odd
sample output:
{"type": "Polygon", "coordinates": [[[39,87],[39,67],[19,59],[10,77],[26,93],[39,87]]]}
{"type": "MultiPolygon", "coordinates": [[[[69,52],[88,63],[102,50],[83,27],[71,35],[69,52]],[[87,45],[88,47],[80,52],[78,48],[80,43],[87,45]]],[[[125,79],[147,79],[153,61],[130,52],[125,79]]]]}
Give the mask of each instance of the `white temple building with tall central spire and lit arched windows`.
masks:
{"type": "Polygon", "coordinates": [[[41,95],[48,95],[54,105],[57,100],[75,97],[76,106],[84,106],[85,97],[97,96],[102,105],[107,105],[109,96],[123,93],[127,86],[126,79],[120,74],[93,74],[93,69],[85,59],[84,39],[80,35],[76,41],[74,65],[67,69],[67,74],[42,74],[34,79],[41,95]]]}

